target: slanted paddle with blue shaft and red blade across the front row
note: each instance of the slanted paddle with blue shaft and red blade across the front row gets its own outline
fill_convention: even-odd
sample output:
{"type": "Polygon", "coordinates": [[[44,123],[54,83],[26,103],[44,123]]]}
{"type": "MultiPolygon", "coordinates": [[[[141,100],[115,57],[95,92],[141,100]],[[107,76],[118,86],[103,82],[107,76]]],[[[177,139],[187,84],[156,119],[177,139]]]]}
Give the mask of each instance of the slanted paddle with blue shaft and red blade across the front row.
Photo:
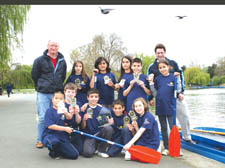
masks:
{"type": "MultiPolygon", "coordinates": [[[[109,140],[106,140],[106,139],[103,139],[85,132],[81,132],[78,130],[73,130],[73,132],[123,148],[123,145],[121,144],[118,144],[116,142],[112,142],[112,141],[109,141],[109,140]]],[[[132,156],[134,156],[135,158],[137,158],[138,160],[142,162],[158,164],[161,159],[161,154],[159,152],[144,146],[133,145],[128,149],[128,151],[130,152],[132,156]]]]}

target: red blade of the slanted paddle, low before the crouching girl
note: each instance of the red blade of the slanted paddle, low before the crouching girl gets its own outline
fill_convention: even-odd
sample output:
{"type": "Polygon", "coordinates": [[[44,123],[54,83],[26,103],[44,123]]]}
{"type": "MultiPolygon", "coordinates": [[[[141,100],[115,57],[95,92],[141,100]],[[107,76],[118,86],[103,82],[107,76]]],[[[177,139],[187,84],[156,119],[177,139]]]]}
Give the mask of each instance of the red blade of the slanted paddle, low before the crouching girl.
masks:
{"type": "Polygon", "coordinates": [[[128,151],[141,162],[158,164],[161,159],[161,153],[144,146],[134,145],[128,151]]]}

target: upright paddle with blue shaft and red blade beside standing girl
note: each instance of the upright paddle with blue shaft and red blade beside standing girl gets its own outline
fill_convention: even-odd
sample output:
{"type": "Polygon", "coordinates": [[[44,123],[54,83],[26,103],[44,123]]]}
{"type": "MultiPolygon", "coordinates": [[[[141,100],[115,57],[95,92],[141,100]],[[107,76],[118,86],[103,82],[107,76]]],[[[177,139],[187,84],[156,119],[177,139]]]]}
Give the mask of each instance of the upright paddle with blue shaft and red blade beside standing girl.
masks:
{"type": "Polygon", "coordinates": [[[179,130],[176,126],[176,97],[177,97],[177,78],[175,77],[174,80],[174,99],[173,99],[173,128],[170,131],[169,135],[169,155],[173,157],[179,157],[180,156],[180,134],[179,130]]]}

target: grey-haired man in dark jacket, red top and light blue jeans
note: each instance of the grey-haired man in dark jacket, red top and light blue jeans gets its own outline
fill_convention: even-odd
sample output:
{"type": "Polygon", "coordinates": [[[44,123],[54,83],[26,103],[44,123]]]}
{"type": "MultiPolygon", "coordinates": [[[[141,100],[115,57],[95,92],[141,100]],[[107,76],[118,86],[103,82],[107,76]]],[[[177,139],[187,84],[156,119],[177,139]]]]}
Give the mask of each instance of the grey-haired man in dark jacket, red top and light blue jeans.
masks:
{"type": "Polygon", "coordinates": [[[31,75],[37,91],[37,148],[43,148],[42,132],[46,110],[52,106],[51,99],[55,91],[63,91],[63,82],[66,78],[66,61],[58,52],[59,43],[50,40],[48,49],[33,63],[31,75]]]}

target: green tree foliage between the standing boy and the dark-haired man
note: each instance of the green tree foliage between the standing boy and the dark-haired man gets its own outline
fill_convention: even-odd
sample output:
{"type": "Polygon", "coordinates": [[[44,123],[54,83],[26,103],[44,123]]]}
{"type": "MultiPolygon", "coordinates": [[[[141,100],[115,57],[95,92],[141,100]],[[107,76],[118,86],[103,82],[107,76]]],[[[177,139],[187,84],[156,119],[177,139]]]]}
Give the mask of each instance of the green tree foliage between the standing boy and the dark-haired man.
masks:
{"type": "Polygon", "coordinates": [[[147,74],[147,70],[150,64],[152,64],[155,61],[155,56],[148,56],[141,54],[136,54],[136,57],[140,58],[142,60],[142,72],[143,74],[147,74]]]}

